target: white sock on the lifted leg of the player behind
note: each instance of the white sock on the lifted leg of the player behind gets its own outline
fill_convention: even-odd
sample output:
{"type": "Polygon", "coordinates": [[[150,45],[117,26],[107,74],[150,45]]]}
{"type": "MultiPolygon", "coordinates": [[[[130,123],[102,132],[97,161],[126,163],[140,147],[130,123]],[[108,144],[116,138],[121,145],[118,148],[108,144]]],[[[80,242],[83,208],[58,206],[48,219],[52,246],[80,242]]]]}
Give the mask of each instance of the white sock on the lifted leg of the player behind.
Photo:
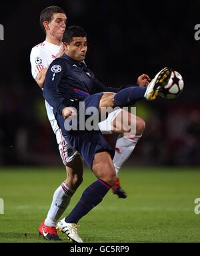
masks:
{"type": "Polygon", "coordinates": [[[133,149],[135,148],[141,135],[126,135],[120,134],[117,138],[115,145],[115,156],[113,158],[113,164],[115,166],[115,172],[118,174],[119,169],[123,163],[129,158],[133,149]]]}

